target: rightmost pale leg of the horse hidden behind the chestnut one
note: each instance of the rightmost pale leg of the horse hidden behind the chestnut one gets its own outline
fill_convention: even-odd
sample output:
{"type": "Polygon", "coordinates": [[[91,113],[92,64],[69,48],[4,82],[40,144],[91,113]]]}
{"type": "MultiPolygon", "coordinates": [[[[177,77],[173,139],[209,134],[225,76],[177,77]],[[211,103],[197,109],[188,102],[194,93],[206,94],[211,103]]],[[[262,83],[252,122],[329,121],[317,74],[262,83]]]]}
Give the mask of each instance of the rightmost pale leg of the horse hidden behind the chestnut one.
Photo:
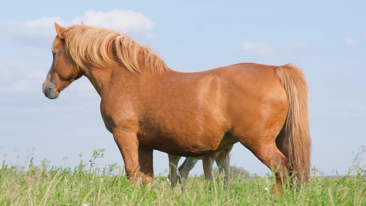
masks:
{"type": "Polygon", "coordinates": [[[232,147],[234,145],[231,145],[224,150],[220,151],[220,154],[216,157],[216,165],[219,167],[220,174],[223,174],[225,172],[225,186],[227,188],[230,188],[230,152],[232,150],[232,147]]]}

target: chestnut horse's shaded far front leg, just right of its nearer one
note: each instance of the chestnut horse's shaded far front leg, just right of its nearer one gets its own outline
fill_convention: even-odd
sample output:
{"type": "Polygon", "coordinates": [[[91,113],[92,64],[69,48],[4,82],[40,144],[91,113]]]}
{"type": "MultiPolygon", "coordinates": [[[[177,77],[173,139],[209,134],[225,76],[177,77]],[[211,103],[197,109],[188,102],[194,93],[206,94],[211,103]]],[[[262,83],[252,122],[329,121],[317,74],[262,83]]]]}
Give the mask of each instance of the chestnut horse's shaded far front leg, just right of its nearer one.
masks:
{"type": "MultiPolygon", "coordinates": [[[[138,148],[138,159],[140,165],[140,171],[144,174],[144,178],[153,183],[154,180],[154,168],[153,168],[153,150],[138,148]]],[[[144,182],[144,180],[142,180],[144,182]]]]}

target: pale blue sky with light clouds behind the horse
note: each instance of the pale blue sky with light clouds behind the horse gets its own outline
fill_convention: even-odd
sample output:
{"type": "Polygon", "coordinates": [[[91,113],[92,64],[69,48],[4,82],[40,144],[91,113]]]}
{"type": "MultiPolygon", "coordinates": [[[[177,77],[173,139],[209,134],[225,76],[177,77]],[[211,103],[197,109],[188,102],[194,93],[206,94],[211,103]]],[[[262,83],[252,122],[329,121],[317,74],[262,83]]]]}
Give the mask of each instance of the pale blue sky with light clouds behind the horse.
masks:
{"type": "MultiPolygon", "coordinates": [[[[100,116],[100,97],[87,78],[56,100],[41,91],[52,63],[53,22],[119,30],[156,49],[173,70],[192,72],[241,62],[295,63],[310,89],[312,165],[325,174],[348,172],[366,145],[365,1],[4,1],[0,7],[0,152],[24,164],[78,164],[105,148],[99,166],[122,157],[100,116]],[[57,5],[56,5],[57,4],[57,5]],[[18,157],[18,155],[20,155],[18,157]],[[333,172],[334,173],[334,172],[333,172]]],[[[0,156],[1,158],[1,156],[0,156]]],[[[183,159],[182,159],[183,161],[183,159]]],[[[182,162],[181,161],[181,162],[182,162]]],[[[235,144],[231,163],[269,171],[235,144]]],[[[365,161],[362,161],[365,164],[365,161]]],[[[154,151],[154,171],[168,168],[154,151]]],[[[201,174],[199,161],[192,174],[201,174]]]]}

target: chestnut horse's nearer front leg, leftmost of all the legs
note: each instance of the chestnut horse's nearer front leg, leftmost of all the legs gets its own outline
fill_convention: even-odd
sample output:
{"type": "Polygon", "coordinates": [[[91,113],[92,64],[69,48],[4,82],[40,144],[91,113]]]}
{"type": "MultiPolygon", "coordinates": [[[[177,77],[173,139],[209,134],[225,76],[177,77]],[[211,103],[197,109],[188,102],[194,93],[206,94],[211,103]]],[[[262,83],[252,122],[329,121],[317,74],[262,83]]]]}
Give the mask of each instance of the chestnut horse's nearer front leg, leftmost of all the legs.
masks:
{"type": "Polygon", "coordinates": [[[113,137],[122,154],[127,179],[133,183],[139,183],[137,180],[141,177],[146,182],[140,170],[136,133],[116,128],[113,129],[113,137]]]}

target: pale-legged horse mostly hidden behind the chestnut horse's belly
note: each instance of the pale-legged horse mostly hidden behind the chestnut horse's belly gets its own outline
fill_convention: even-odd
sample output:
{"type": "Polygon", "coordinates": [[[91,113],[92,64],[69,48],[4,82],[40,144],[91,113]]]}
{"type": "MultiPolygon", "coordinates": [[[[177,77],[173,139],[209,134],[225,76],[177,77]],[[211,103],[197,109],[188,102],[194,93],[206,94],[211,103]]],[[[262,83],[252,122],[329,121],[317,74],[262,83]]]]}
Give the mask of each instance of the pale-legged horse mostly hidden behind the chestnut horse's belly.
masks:
{"type": "Polygon", "coordinates": [[[182,165],[178,168],[178,162],[180,160],[180,156],[168,154],[169,158],[169,175],[168,178],[171,181],[171,187],[174,188],[177,180],[179,179],[179,183],[182,184],[182,192],[187,186],[189,172],[193,169],[199,159],[202,159],[203,165],[203,174],[205,174],[206,180],[209,180],[209,183],[212,183],[212,165],[215,161],[217,166],[219,167],[219,173],[223,174],[225,172],[225,186],[229,187],[230,185],[230,156],[229,153],[232,150],[231,145],[223,150],[218,152],[209,153],[203,155],[201,157],[187,157],[182,165]],[[177,173],[178,172],[178,173],[177,173]]]}

